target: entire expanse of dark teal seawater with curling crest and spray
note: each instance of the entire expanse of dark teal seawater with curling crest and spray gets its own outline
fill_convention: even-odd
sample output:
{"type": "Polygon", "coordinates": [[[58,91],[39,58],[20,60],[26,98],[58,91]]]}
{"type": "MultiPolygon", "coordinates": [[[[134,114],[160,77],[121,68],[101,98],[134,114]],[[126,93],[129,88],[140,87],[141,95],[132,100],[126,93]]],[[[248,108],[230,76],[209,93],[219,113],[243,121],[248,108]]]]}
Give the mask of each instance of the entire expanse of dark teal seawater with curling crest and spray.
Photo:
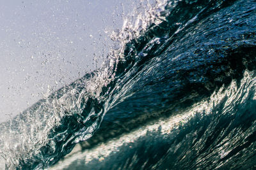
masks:
{"type": "Polygon", "coordinates": [[[0,124],[3,168],[47,168],[85,140],[69,169],[256,168],[256,1],[149,11],[100,69],[0,124]]]}

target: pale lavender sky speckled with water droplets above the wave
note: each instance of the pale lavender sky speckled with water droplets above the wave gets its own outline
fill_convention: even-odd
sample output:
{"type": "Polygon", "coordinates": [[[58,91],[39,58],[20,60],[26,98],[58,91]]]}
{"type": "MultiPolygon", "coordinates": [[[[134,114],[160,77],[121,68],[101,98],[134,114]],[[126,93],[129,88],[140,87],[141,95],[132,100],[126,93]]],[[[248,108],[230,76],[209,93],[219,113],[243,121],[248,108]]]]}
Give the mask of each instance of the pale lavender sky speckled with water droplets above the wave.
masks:
{"type": "Polygon", "coordinates": [[[0,0],[0,122],[95,69],[131,2],[0,0]]]}

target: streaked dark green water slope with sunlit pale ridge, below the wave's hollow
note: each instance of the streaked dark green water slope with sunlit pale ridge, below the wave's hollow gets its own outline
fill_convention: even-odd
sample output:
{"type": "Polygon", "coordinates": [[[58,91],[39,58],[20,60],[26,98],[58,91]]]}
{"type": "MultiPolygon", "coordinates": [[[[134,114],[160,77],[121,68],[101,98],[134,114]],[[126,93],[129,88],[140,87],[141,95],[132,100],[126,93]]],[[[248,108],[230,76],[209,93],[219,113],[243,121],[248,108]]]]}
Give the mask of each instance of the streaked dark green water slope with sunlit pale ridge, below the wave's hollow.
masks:
{"type": "Polygon", "coordinates": [[[255,83],[255,73],[246,71],[239,84],[234,80],[169,117],[134,130],[120,122],[119,129],[129,129],[121,135],[102,124],[115,136],[106,140],[106,132],[96,132],[51,169],[250,169],[255,166],[255,83]]]}

